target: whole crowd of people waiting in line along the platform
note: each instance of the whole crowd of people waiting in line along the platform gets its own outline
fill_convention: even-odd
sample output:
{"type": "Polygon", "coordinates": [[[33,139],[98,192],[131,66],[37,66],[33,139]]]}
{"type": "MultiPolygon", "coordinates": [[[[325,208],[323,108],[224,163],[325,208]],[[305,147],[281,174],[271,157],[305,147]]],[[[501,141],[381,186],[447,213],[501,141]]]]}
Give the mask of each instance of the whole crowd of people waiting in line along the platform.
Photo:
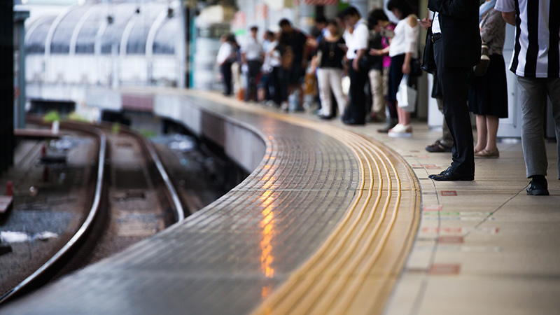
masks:
{"type": "Polygon", "coordinates": [[[412,137],[415,102],[407,102],[403,90],[415,88],[416,78],[422,73],[419,34],[423,27],[430,35],[437,68],[433,71],[431,96],[444,114],[442,137],[426,146],[426,151],[453,153],[451,166],[430,178],[472,181],[475,156],[500,155],[496,146],[498,121],[508,115],[505,23],[517,25],[518,31],[533,23],[538,29],[532,28],[532,34],[517,34],[510,69],[517,75],[524,102],[522,142],[527,177],[531,178],[527,193],[548,195],[542,137],[542,106],[546,102],[542,95],[548,94],[552,100],[556,138],[560,139],[559,23],[542,25],[551,17],[526,12],[542,2],[540,14],[550,14],[551,1],[456,0],[451,5],[449,1],[430,0],[428,8],[433,17],[420,20],[407,0],[389,0],[387,10],[398,19],[396,24],[381,8],[363,18],[349,6],[336,19],[316,18],[310,36],[283,19],[279,31],[265,31],[262,43],[257,38],[258,28],[251,27],[245,45],[240,46],[232,34],[222,37],[217,61],[223,75],[223,93],[232,94],[233,66],[246,78],[246,89],[237,89],[246,101],[272,104],[283,111],[302,111],[304,94],[317,90],[311,99],[318,104],[316,114],[321,119],[335,118],[338,111],[346,125],[385,122],[378,132],[386,132],[389,137],[412,137]],[[555,41],[541,43],[541,38],[555,41]],[[548,59],[542,54],[539,57],[531,47],[545,47],[551,53],[548,59]],[[310,79],[304,80],[306,76],[310,79]],[[346,93],[344,77],[349,78],[346,93]],[[538,91],[542,93],[534,96],[538,91]],[[533,104],[535,99],[542,104],[533,104]],[[476,116],[476,145],[468,111],[476,116]]]}

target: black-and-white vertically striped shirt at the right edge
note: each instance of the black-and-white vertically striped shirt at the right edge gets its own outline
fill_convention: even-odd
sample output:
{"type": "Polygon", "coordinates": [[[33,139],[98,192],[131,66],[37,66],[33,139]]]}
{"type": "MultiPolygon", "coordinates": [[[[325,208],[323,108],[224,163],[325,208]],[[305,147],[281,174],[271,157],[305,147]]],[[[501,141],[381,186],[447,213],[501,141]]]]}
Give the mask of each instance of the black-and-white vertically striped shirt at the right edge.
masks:
{"type": "Polygon", "coordinates": [[[510,70],[526,78],[559,78],[560,0],[497,0],[494,8],[517,13],[510,70]]]}

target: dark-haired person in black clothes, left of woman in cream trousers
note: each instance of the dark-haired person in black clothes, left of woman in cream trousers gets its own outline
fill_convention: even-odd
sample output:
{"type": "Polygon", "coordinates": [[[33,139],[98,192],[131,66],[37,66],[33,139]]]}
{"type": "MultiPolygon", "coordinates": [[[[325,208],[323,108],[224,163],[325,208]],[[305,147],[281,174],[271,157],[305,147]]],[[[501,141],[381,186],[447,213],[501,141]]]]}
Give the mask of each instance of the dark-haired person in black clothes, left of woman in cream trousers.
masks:
{"type": "MultiPolygon", "coordinates": [[[[287,19],[282,19],[279,22],[279,27],[282,29],[282,42],[287,43],[288,47],[293,53],[292,63],[286,73],[286,85],[288,86],[288,95],[297,91],[299,93],[299,105],[303,104],[303,77],[305,69],[307,69],[307,36],[299,29],[292,27],[292,23],[287,19]]],[[[286,106],[282,106],[284,111],[288,110],[286,106]]]]}

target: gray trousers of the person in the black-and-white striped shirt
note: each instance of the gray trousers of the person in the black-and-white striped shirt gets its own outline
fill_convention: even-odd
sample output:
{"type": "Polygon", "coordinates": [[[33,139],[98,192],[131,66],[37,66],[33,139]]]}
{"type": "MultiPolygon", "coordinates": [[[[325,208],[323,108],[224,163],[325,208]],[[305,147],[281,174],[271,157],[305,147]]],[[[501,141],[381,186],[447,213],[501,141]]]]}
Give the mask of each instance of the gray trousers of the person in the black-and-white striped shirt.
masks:
{"type": "Polygon", "coordinates": [[[524,78],[517,76],[518,102],[521,104],[521,144],[527,177],[547,174],[544,126],[547,95],[552,102],[556,124],[556,157],[560,179],[560,78],[524,78]]]}

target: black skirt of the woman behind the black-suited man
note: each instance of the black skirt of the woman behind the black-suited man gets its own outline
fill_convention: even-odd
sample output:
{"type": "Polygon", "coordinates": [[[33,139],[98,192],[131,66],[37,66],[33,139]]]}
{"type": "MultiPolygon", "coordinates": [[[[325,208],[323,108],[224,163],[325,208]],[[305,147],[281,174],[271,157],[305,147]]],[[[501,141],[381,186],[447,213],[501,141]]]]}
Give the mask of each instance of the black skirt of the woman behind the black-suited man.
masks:
{"type": "Polygon", "coordinates": [[[475,76],[468,89],[468,109],[478,115],[507,118],[507,81],[502,55],[491,55],[484,76],[475,76]]]}

